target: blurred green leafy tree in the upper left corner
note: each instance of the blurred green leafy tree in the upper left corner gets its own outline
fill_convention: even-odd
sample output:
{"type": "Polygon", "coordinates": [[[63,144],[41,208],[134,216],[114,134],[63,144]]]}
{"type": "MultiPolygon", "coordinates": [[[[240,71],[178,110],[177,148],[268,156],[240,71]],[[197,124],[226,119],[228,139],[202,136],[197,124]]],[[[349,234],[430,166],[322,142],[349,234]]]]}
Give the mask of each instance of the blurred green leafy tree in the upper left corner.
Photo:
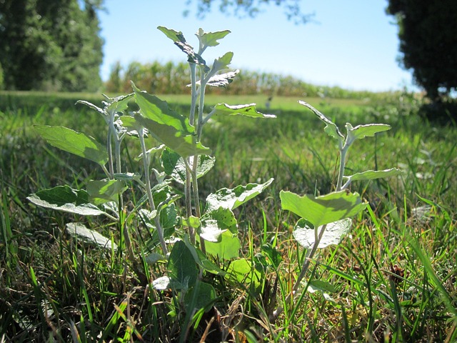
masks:
{"type": "Polygon", "coordinates": [[[4,89],[96,91],[101,0],[0,1],[4,89]]]}

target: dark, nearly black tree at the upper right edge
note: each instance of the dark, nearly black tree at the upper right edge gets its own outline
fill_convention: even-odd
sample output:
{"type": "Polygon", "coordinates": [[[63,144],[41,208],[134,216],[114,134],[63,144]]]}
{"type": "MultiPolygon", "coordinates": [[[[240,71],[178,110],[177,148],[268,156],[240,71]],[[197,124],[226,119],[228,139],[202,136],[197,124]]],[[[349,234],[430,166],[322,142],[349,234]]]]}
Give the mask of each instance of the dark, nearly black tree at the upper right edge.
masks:
{"type": "Polygon", "coordinates": [[[398,23],[404,68],[428,98],[443,100],[457,87],[457,1],[389,0],[386,11],[398,23]]]}

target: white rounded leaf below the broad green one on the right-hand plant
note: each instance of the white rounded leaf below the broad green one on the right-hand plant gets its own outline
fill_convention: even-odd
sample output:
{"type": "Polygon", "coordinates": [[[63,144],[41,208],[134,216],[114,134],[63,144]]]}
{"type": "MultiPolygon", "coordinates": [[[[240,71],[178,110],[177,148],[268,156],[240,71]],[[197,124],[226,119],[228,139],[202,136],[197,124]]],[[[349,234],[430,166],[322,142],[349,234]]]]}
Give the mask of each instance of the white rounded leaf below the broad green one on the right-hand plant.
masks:
{"type": "MultiPolygon", "coordinates": [[[[340,244],[343,236],[351,229],[351,224],[352,220],[348,218],[326,224],[327,226],[323,232],[321,242],[319,242],[318,249],[323,249],[329,245],[340,244]]],[[[321,232],[321,229],[322,226],[318,227],[317,232],[321,232]]],[[[311,249],[315,243],[316,232],[315,229],[306,224],[306,220],[300,219],[293,231],[293,237],[302,247],[311,249]]]]}

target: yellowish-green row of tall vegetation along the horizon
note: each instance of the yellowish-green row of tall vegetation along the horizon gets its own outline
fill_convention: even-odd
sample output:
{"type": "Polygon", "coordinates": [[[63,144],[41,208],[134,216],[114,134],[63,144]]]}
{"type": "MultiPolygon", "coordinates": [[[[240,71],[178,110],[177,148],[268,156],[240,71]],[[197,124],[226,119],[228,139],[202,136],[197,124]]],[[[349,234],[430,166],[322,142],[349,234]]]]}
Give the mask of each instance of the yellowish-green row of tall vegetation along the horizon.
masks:
{"type": "MultiPolygon", "coordinates": [[[[154,61],[148,64],[131,62],[122,66],[119,62],[111,67],[106,91],[127,93],[130,81],[153,94],[189,94],[189,64],[154,61]]],[[[211,94],[265,94],[267,96],[325,96],[333,99],[364,99],[373,95],[370,91],[348,91],[338,86],[316,86],[296,79],[258,71],[242,70],[226,89],[208,87],[211,94]]]]}

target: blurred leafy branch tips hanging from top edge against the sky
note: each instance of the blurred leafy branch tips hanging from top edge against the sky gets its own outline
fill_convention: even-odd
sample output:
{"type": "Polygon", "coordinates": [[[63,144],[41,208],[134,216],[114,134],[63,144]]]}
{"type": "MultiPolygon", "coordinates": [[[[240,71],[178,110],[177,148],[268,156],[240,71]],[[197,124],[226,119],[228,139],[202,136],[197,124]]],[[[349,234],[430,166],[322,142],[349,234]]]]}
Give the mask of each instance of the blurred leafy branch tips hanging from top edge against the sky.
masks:
{"type": "Polygon", "coordinates": [[[188,9],[184,15],[189,14],[189,6],[196,3],[196,15],[204,18],[208,14],[212,5],[216,4],[219,10],[225,14],[234,16],[257,16],[261,13],[263,6],[275,4],[283,8],[284,14],[289,20],[295,21],[296,24],[306,23],[311,19],[312,14],[303,14],[300,8],[301,0],[187,0],[188,9]]]}

